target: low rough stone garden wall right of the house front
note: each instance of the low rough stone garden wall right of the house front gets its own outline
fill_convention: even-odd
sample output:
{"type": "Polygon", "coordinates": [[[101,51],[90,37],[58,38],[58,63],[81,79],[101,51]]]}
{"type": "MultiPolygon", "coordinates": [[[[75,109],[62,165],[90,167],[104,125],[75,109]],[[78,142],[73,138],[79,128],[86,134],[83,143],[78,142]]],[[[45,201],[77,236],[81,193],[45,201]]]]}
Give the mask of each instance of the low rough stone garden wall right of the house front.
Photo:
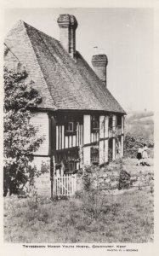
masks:
{"type": "Polygon", "coordinates": [[[144,189],[153,187],[154,172],[153,166],[136,166],[111,163],[109,166],[101,168],[98,183],[105,191],[115,189],[144,189]],[[121,177],[122,176],[122,177],[121,177]],[[122,179],[122,188],[120,183],[122,179]],[[125,184],[125,186],[124,186],[125,184]]]}

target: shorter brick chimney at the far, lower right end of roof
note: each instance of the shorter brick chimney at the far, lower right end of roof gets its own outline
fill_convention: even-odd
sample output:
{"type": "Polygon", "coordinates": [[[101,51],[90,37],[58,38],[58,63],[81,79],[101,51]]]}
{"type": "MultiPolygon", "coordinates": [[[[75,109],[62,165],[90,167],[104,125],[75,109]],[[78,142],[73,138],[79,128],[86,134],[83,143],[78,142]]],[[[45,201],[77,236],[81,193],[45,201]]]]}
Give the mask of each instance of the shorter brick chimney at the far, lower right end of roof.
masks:
{"type": "Polygon", "coordinates": [[[93,55],[92,65],[94,67],[94,72],[99,77],[99,79],[106,86],[106,66],[108,64],[108,59],[106,55],[93,55]]]}

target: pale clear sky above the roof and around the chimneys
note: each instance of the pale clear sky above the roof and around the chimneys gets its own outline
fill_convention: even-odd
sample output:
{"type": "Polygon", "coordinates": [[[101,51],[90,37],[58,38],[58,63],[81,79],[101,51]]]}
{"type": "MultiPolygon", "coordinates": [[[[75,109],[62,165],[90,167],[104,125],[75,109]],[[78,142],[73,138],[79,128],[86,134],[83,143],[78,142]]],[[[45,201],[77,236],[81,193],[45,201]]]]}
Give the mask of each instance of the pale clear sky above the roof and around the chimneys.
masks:
{"type": "Polygon", "coordinates": [[[60,14],[76,16],[77,50],[91,67],[92,55],[107,55],[107,88],[122,108],[153,110],[153,9],[6,9],[5,33],[24,20],[59,39],[60,14]]]}

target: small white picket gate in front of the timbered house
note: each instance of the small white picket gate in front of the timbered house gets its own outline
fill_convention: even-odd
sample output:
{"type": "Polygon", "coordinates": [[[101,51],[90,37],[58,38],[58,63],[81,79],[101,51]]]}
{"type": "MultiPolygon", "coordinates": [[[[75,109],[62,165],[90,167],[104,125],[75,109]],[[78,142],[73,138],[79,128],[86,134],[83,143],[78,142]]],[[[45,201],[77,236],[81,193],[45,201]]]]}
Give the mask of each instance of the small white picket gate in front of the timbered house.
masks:
{"type": "Polygon", "coordinates": [[[55,176],[56,195],[75,195],[77,191],[77,174],[55,176]]]}

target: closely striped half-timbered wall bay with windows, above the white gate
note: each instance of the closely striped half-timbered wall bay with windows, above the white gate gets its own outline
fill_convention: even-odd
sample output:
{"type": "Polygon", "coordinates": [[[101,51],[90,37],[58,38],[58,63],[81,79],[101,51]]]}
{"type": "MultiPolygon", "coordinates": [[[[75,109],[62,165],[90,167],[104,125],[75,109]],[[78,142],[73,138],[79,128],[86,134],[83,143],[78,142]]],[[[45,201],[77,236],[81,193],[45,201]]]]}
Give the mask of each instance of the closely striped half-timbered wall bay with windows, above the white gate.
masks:
{"type": "Polygon", "coordinates": [[[60,173],[75,172],[81,164],[79,147],[83,144],[82,114],[59,113],[56,116],[55,161],[60,173]]]}

